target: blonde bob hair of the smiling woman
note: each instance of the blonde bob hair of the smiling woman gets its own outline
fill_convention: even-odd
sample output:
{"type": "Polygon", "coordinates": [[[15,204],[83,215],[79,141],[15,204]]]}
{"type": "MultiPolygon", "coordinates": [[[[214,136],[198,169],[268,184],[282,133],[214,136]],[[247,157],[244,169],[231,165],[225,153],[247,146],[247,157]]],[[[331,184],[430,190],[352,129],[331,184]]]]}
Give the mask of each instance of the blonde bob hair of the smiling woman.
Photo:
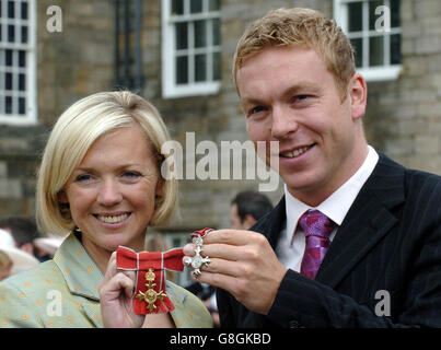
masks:
{"type": "MultiPolygon", "coordinates": [[[[142,97],[127,91],[102,92],[80,100],[62,113],[50,132],[38,171],[36,211],[44,232],[66,234],[74,229],[69,205],[60,203],[59,192],[100,137],[134,126],[143,131],[161,174],[161,147],[170,136],[156,108],[142,97]]],[[[177,180],[161,180],[163,196],[156,198],[152,226],[166,223],[177,206],[177,180]]]]}

